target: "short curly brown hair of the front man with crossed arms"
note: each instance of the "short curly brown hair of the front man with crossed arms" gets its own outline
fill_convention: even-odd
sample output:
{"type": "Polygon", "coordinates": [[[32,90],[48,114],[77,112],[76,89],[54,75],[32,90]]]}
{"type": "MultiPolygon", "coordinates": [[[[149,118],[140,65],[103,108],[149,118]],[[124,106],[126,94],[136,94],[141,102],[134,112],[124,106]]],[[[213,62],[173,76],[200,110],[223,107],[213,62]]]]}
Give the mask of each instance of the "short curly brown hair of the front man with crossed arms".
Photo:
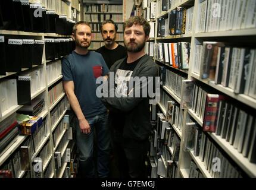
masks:
{"type": "Polygon", "coordinates": [[[142,25],[145,35],[149,36],[150,24],[148,23],[148,21],[145,20],[145,18],[141,16],[130,17],[128,20],[124,21],[124,30],[126,29],[126,27],[132,27],[133,24],[142,25]]]}

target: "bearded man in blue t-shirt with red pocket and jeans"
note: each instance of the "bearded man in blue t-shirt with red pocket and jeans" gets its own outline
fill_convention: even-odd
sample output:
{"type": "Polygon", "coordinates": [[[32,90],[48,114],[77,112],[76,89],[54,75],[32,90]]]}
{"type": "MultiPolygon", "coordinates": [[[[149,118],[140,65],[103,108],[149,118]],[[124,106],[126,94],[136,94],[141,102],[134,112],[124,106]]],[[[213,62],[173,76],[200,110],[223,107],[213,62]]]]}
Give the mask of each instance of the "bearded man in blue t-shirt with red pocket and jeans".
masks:
{"type": "Polygon", "coordinates": [[[96,78],[109,70],[100,53],[90,52],[92,33],[89,23],[79,21],[73,27],[76,49],[62,61],[65,93],[77,116],[76,143],[79,148],[79,175],[94,178],[93,133],[96,133],[98,177],[109,174],[110,131],[107,109],[96,97],[96,78]]]}

